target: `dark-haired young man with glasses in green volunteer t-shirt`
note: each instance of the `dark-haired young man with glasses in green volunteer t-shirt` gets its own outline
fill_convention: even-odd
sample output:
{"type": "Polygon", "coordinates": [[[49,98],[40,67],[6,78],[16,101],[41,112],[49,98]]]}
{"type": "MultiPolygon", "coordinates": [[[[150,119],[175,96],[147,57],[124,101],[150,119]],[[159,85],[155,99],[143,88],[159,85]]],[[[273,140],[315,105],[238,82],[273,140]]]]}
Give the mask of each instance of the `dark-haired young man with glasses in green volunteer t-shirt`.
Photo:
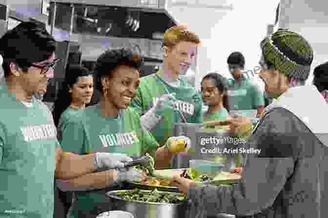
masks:
{"type": "Polygon", "coordinates": [[[0,38],[0,48],[6,78],[0,90],[0,218],[53,218],[54,178],[120,168],[132,159],[62,152],[52,114],[35,98],[59,61],[44,27],[22,22],[0,38]]]}

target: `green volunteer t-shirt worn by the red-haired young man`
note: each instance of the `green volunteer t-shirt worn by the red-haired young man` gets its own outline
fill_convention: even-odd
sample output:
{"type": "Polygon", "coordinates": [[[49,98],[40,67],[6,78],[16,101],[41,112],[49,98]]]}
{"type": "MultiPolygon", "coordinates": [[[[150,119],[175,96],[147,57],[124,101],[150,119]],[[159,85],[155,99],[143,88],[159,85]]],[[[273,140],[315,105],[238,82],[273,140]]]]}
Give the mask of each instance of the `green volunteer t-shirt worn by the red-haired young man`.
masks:
{"type": "Polygon", "coordinates": [[[203,123],[203,100],[194,87],[188,85],[185,78],[181,78],[179,87],[168,85],[161,78],[161,71],[141,78],[137,95],[131,106],[138,109],[141,115],[151,109],[156,101],[164,94],[175,92],[178,101],[175,109],[166,109],[161,121],[152,130],[152,135],[160,145],[173,136],[173,124],[184,122],[182,115],[188,123],[203,123]],[[179,112],[180,111],[180,112],[179,112]]]}

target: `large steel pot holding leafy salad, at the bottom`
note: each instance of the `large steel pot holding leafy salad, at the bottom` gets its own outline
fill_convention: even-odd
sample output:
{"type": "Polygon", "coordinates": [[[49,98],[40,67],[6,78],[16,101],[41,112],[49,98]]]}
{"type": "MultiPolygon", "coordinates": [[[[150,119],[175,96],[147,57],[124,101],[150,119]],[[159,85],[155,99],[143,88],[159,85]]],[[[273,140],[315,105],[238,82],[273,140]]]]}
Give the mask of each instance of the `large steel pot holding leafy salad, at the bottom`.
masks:
{"type": "MultiPolygon", "coordinates": [[[[123,200],[117,195],[117,192],[122,191],[127,190],[110,191],[106,193],[106,196],[111,201],[112,210],[127,211],[133,214],[135,218],[187,218],[187,203],[171,204],[142,201],[131,202],[123,200]]],[[[178,193],[159,192],[178,195],[178,193]]]]}

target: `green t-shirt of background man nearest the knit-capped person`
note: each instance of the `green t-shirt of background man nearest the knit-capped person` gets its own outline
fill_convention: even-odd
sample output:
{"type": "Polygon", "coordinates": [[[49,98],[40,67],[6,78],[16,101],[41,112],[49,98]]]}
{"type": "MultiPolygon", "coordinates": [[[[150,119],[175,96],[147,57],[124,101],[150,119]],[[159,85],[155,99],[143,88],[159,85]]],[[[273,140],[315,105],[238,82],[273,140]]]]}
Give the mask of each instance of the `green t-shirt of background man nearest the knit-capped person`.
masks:
{"type": "Polygon", "coordinates": [[[229,110],[253,110],[265,106],[265,97],[259,88],[243,78],[241,85],[233,79],[227,80],[227,101],[229,110]]]}

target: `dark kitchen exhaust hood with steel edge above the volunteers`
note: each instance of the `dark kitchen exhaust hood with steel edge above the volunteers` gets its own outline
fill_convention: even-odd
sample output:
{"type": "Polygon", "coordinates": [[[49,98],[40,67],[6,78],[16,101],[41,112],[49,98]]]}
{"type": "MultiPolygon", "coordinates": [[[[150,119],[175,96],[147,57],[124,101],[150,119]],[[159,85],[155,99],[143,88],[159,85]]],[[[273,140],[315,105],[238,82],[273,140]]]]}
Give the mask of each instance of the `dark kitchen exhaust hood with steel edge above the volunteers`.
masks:
{"type": "Polygon", "coordinates": [[[176,24],[165,0],[52,0],[49,25],[74,34],[161,39],[176,24]]]}

